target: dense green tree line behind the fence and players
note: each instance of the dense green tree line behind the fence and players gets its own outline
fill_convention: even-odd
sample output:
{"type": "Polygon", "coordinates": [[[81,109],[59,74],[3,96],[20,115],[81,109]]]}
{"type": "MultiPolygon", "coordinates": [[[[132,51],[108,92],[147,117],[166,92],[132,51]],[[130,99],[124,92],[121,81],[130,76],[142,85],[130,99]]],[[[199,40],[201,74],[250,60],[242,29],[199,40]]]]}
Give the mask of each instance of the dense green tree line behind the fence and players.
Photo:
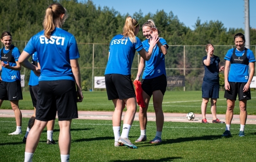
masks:
{"type": "MultiPolygon", "coordinates": [[[[115,9],[108,7],[97,7],[93,1],[78,2],[77,0],[9,0],[0,1],[0,30],[9,31],[13,35],[13,40],[29,40],[31,36],[43,30],[42,22],[47,6],[51,3],[59,2],[66,9],[68,18],[62,28],[72,33],[78,43],[104,43],[95,47],[95,67],[104,67],[107,62],[108,44],[116,34],[122,32],[127,16],[121,15],[115,9]]],[[[201,22],[198,18],[194,29],[187,27],[180,22],[178,17],[172,12],[166,13],[163,10],[156,13],[144,14],[141,11],[134,13],[132,18],[137,19],[142,25],[148,19],[153,19],[159,30],[159,35],[167,41],[168,45],[234,45],[234,35],[244,32],[241,28],[225,28],[221,21],[201,22]],[[145,16],[143,16],[145,15],[145,16]]],[[[141,29],[137,35],[141,40],[145,40],[141,29]]],[[[256,30],[250,29],[251,45],[256,45],[256,30]]],[[[23,44],[17,44],[20,51],[23,44]]],[[[92,47],[91,45],[78,45],[81,58],[79,59],[82,68],[82,80],[84,90],[91,89],[92,72],[92,47]]],[[[229,47],[228,47],[229,48],[229,47]]],[[[223,60],[227,47],[218,47],[216,53],[223,60]]],[[[191,47],[187,49],[186,67],[203,68],[202,57],[206,55],[204,47],[191,47]]],[[[170,47],[165,64],[167,68],[183,67],[183,47],[170,47]]],[[[253,50],[254,51],[254,50],[253,50]]],[[[137,59],[135,57],[135,59],[137,59]]],[[[137,67],[137,62],[133,67],[137,67]]],[[[133,70],[132,73],[137,73],[133,70]]],[[[167,70],[167,75],[183,75],[181,70],[167,70]]],[[[104,75],[103,70],[96,70],[96,75],[104,75]]],[[[201,81],[202,70],[186,71],[186,87],[189,90],[199,90],[197,81],[201,81]],[[194,78],[194,79],[193,79],[194,78]],[[197,79],[196,79],[197,78],[197,79]],[[192,83],[193,82],[193,83],[192,83]],[[194,83],[195,82],[195,83],[194,83]]],[[[135,74],[136,76],[136,74],[135,74]]],[[[28,81],[29,76],[26,76],[28,81]]],[[[178,89],[178,88],[176,88],[178,89]]]]}

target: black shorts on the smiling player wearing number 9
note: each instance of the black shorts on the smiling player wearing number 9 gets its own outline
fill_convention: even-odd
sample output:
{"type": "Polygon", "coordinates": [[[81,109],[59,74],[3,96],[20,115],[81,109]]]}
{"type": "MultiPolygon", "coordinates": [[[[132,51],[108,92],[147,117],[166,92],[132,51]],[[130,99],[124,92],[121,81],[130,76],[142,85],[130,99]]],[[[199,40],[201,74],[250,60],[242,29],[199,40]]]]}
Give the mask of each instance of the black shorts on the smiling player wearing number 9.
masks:
{"type": "Polygon", "coordinates": [[[152,79],[142,79],[141,81],[142,90],[150,97],[156,90],[161,90],[162,94],[165,95],[166,86],[167,80],[164,74],[152,79]]]}

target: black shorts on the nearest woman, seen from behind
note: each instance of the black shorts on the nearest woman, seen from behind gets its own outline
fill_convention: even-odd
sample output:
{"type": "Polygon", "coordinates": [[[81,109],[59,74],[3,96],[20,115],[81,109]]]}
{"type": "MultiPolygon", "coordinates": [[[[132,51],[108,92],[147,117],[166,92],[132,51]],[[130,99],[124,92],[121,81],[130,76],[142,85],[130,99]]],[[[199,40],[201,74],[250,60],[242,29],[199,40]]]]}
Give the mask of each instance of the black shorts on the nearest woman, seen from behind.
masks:
{"type": "Polygon", "coordinates": [[[39,81],[36,119],[59,121],[78,118],[76,84],[71,80],[39,81]]]}

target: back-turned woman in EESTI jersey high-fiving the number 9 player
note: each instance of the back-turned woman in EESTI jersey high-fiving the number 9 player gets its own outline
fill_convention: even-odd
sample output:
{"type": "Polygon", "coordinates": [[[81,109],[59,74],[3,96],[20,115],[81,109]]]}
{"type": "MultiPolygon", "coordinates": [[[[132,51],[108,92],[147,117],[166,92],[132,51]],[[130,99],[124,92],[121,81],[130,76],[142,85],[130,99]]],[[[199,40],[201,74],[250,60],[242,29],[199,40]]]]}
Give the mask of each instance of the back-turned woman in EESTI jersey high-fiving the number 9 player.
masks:
{"type": "Polygon", "coordinates": [[[132,61],[135,51],[138,51],[145,60],[149,60],[153,47],[158,41],[158,34],[154,33],[147,52],[143,49],[141,40],[136,37],[138,32],[138,21],[128,16],[124,24],[123,33],[114,36],[110,42],[108,63],[105,71],[108,100],[112,100],[115,106],[112,118],[115,146],[126,145],[129,148],[137,148],[128,139],[130,127],[137,111],[135,91],[131,80],[132,61]],[[124,115],[123,130],[120,136],[124,104],[126,104],[127,111],[124,115]]]}

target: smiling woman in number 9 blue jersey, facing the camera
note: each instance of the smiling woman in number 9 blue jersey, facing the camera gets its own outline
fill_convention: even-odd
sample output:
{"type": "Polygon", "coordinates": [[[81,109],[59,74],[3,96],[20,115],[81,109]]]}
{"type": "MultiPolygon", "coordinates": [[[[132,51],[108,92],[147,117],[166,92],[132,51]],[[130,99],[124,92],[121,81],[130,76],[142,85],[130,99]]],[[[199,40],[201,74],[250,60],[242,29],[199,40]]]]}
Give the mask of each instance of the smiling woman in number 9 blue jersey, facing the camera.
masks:
{"type": "MultiPolygon", "coordinates": [[[[142,26],[143,36],[147,38],[142,42],[143,48],[148,51],[151,43],[152,28],[156,28],[156,25],[152,19],[149,19],[142,26]]],[[[150,141],[150,143],[162,142],[162,130],[164,123],[164,115],[162,110],[163,96],[165,94],[167,80],[165,71],[165,55],[167,54],[168,45],[164,38],[160,38],[157,42],[157,46],[154,47],[150,60],[143,59],[141,57],[138,73],[135,80],[139,81],[143,68],[145,70],[142,76],[142,96],[145,102],[145,108],[139,108],[139,123],[141,128],[141,135],[135,142],[146,141],[146,126],[148,122],[147,110],[151,96],[153,95],[153,105],[156,113],[156,136],[150,141]]]]}

